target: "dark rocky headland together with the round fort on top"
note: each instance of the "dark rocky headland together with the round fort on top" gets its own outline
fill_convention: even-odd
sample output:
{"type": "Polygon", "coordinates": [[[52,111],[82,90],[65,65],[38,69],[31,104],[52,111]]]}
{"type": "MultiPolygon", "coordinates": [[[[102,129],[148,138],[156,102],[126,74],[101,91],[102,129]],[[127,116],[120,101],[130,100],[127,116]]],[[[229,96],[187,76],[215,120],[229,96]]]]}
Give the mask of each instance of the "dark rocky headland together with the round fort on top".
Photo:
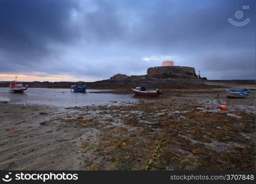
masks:
{"type": "MultiPolygon", "coordinates": [[[[146,75],[115,74],[110,79],[96,82],[23,82],[29,88],[70,88],[71,85],[87,85],[91,89],[123,89],[134,86],[149,88],[205,88],[220,83],[255,85],[255,80],[208,80],[196,74],[194,67],[174,66],[174,61],[163,61],[162,66],[149,67],[146,75]]],[[[9,87],[9,82],[0,83],[9,87]]]]}

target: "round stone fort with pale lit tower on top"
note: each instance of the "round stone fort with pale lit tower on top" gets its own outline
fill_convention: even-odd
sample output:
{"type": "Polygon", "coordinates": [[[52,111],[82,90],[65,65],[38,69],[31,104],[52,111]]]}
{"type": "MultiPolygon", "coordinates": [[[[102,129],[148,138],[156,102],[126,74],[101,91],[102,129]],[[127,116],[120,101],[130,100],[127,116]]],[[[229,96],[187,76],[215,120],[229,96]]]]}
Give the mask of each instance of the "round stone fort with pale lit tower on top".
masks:
{"type": "Polygon", "coordinates": [[[173,61],[163,61],[162,66],[149,67],[147,69],[147,75],[166,75],[170,77],[197,77],[194,67],[174,66],[173,61]]]}

